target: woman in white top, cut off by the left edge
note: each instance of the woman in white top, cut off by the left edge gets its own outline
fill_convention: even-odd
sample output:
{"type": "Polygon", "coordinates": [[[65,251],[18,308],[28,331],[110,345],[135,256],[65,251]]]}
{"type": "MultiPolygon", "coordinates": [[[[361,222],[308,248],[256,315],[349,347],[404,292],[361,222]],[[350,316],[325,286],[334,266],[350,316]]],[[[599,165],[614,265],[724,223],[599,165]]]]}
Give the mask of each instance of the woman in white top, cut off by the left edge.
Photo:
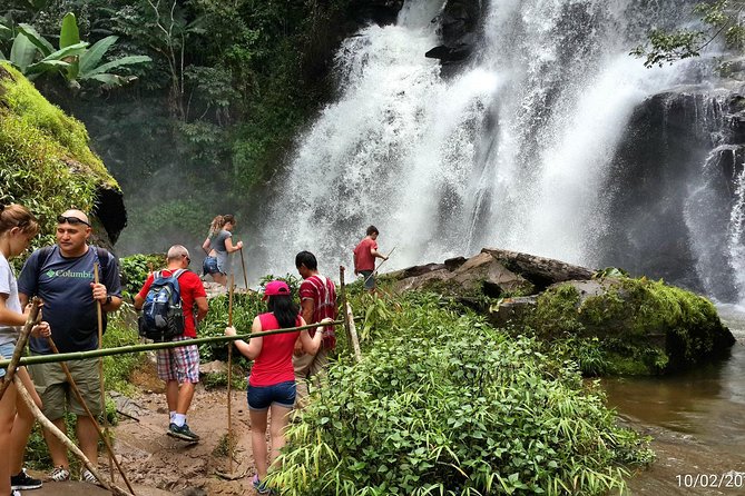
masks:
{"type": "MultiPolygon", "coordinates": [[[[37,232],[39,224],[26,207],[0,205],[0,355],[3,358],[12,357],[20,327],[26,324],[30,311],[21,309],[16,274],[8,260],[26,251],[37,232]]],[[[47,323],[35,326],[31,334],[36,337],[51,335],[47,323]]],[[[26,367],[19,367],[16,373],[40,406],[41,399],[26,367]]],[[[0,368],[0,377],[4,375],[6,369],[0,368]]],[[[33,416],[11,383],[0,400],[0,453],[4,455],[0,456],[0,496],[20,494],[11,489],[11,478],[16,488],[41,487],[41,480],[29,477],[22,470],[23,450],[32,427],[33,416]]]]}

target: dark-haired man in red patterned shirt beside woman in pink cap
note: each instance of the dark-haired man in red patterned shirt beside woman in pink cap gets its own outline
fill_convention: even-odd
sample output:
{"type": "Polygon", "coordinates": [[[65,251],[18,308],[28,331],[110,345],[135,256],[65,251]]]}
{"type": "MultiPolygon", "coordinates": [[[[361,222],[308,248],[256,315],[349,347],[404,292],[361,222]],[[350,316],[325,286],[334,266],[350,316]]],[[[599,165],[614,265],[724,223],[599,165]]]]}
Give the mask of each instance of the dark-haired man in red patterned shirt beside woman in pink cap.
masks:
{"type": "MultiPolygon", "coordinates": [[[[336,320],[336,286],[334,281],[318,272],[318,262],[310,251],[301,251],[295,256],[295,267],[303,278],[300,285],[301,315],[307,324],[316,324],[329,317],[336,320]]],[[[315,330],[308,329],[311,337],[315,330]]],[[[325,328],[323,344],[315,355],[303,353],[300,339],[295,341],[293,367],[297,393],[295,406],[303,408],[307,398],[307,383],[322,373],[329,365],[329,351],[336,346],[334,327],[325,328]]],[[[317,386],[317,380],[314,383],[317,386]]]]}

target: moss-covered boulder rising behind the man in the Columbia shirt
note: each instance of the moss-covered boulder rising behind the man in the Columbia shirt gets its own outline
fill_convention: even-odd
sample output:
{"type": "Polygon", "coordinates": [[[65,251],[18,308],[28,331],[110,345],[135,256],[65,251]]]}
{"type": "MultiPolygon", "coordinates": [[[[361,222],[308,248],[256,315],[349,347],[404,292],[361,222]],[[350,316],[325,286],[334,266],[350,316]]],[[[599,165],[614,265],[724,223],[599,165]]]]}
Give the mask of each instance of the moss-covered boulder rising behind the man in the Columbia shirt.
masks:
{"type": "Polygon", "coordinates": [[[102,244],[116,242],[127,224],[121,190],[89,148],[85,126],[7,62],[0,62],[0,202],[33,211],[42,224],[39,245],[53,242],[56,217],[69,208],[92,214],[102,244]]]}

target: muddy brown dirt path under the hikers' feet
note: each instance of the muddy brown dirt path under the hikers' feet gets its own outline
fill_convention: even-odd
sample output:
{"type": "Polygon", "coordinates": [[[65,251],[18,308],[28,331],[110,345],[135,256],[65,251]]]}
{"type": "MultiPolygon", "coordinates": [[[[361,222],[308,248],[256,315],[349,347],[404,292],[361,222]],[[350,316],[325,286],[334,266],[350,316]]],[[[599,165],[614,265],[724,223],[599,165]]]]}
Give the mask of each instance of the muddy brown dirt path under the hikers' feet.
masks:
{"type": "MultiPolygon", "coordinates": [[[[156,487],[179,495],[252,495],[254,474],[251,453],[251,427],[245,393],[232,395],[235,443],[233,474],[245,474],[237,480],[225,480],[217,473],[228,473],[226,456],[226,390],[197,391],[187,423],[199,435],[198,444],[189,445],[166,435],[168,410],[164,384],[154,379],[154,371],[141,370],[134,381],[143,393],[133,398],[130,407],[138,420],[120,416],[114,429],[115,450],[121,457],[133,484],[156,487]],[[141,375],[139,375],[141,374],[141,375]]],[[[104,457],[100,458],[101,462],[104,457]]]]}

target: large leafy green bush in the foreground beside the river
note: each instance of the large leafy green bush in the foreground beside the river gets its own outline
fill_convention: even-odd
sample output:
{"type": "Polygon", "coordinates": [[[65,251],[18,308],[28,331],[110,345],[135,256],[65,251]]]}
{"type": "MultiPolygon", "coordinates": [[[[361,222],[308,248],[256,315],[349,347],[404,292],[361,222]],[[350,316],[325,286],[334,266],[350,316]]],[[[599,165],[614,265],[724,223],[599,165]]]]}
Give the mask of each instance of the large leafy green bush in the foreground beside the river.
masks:
{"type": "Polygon", "coordinates": [[[596,385],[531,339],[405,296],[360,364],[340,360],[287,433],[290,495],[605,494],[648,463],[596,385]]]}

